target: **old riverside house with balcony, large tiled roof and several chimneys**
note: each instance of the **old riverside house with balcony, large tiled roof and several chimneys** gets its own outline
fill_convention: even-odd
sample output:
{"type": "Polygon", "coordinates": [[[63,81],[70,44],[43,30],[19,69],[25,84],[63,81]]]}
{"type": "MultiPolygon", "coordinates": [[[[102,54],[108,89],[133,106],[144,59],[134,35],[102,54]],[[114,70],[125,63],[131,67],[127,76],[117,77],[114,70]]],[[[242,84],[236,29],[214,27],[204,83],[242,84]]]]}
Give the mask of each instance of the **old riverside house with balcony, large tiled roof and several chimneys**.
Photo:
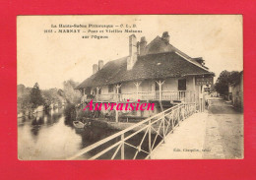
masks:
{"type": "Polygon", "coordinates": [[[94,102],[140,99],[158,103],[156,112],[162,110],[162,106],[180,102],[199,104],[201,101],[203,104],[201,94],[205,84],[196,82],[197,78],[202,81],[214,76],[205,67],[203,58],[191,58],[171,45],[166,31],[150,43],[145,37],[137,41],[134,34],[130,35],[129,55],[105,65],[99,60],[93,66],[93,72],[76,88],[84,94],[83,101],[92,97],[94,102]]]}

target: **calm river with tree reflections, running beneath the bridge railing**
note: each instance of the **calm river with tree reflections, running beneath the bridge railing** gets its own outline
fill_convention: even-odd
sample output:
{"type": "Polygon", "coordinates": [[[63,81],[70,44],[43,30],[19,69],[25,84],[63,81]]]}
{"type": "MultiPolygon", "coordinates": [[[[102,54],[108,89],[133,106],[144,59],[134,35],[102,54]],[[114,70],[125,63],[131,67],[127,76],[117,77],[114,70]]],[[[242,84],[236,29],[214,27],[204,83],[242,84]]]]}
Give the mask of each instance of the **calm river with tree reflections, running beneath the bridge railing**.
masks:
{"type": "MultiPolygon", "coordinates": [[[[18,157],[21,160],[49,160],[66,159],[97,141],[104,139],[117,131],[99,127],[90,127],[85,130],[77,130],[63,115],[63,109],[51,110],[48,113],[38,112],[36,117],[18,118],[18,157]]],[[[139,145],[142,134],[138,134],[131,140],[139,145]]],[[[118,139],[109,142],[105,147],[117,142],[118,139]]],[[[147,141],[143,143],[147,150],[147,141]]],[[[104,150],[104,147],[83,154],[80,159],[88,159],[96,152],[104,150]]],[[[126,147],[126,158],[132,158],[135,149],[126,147]]],[[[113,150],[102,155],[101,159],[111,158],[113,150]]],[[[145,158],[147,154],[139,153],[138,158],[145,158]]],[[[119,155],[120,156],[120,155],[119,155]]],[[[117,157],[116,158],[120,158],[117,157]]]]}

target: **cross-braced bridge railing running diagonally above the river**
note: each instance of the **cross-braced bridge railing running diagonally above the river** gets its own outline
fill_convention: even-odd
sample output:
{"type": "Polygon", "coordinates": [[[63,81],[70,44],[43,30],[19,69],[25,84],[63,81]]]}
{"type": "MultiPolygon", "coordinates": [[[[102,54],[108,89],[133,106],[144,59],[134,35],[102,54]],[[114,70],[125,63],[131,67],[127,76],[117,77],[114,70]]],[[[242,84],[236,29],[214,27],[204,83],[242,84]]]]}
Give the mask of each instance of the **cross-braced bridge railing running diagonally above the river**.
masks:
{"type": "Polygon", "coordinates": [[[104,145],[104,148],[96,150],[96,154],[90,156],[89,159],[100,159],[100,157],[106,153],[107,159],[136,159],[138,153],[140,152],[145,153],[144,157],[151,158],[152,151],[158,145],[164,143],[166,135],[168,133],[173,133],[173,131],[177,126],[179,126],[179,123],[181,121],[196,112],[196,108],[196,103],[181,103],[175,105],[160,112],[159,114],[149,117],[139,123],[128,127],[125,130],[115,133],[83,150],[78,151],[76,154],[69,157],[68,159],[77,159],[85,153],[90,153],[90,151],[98,149],[102,145],[104,145]],[[143,136],[141,136],[139,142],[137,142],[137,144],[135,145],[133,144],[133,141],[131,141],[131,139],[139,133],[141,133],[141,135],[143,136]],[[144,146],[142,146],[143,144],[144,146]],[[126,155],[125,147],[134,149],[134,154],[132,154],[132,157],[130,152],[130,157],[126,155]],[[111,154],[109,154],[109,152],[111,154]],[[117,154],[119,155],[119,157],[117,157],[117,154]]]}

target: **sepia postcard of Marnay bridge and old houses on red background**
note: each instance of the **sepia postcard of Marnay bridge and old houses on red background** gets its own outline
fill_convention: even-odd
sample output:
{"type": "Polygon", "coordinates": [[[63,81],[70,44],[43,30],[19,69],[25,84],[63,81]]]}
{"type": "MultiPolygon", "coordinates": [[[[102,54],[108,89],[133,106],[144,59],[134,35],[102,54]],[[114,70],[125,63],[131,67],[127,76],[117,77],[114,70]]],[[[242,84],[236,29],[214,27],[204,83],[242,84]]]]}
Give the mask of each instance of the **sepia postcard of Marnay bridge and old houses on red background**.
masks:
{"type": "Polygon", "coordinates": [[[242,159],[241,15],[17,17],[18,158],[242,159]]]}

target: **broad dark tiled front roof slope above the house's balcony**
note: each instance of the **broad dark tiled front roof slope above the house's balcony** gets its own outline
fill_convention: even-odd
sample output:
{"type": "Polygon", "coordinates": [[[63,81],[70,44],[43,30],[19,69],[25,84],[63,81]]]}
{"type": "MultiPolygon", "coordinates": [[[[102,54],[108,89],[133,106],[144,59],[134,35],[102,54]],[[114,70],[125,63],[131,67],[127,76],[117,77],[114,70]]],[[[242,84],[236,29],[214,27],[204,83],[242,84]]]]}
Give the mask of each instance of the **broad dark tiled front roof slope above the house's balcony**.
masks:
{"type": "Polygon", "coordinates": [[[138,56],[138,60],[132,70],[127,70],[127,57],[109,61],[95,75],[85,80],[76,89],[186,75],[213,76],[214,73],[189,62],[175,51],[170,51],[138,56]]]}

